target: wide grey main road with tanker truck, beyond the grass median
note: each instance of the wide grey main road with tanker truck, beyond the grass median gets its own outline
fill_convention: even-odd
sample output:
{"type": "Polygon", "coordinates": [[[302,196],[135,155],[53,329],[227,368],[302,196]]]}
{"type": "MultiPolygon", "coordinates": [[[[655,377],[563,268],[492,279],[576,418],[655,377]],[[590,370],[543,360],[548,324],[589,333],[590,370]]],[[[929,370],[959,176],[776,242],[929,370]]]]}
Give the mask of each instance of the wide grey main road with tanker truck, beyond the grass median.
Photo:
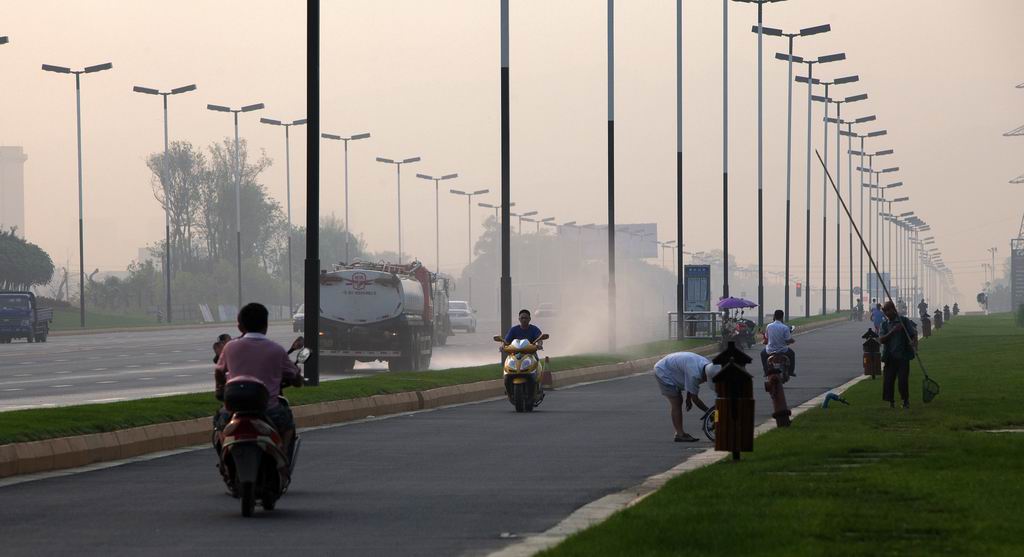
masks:
{"type": "MultiPolygon", "coordinates": [[[[213,390],[213,350],[219,333],[233,327],[51,336],[46,343],[0,344],[0,412],[83,402],[213,390]]],[[[273,325],[268,335],[288,346],[291,325],[273,325]]],[[[494,333],[457,333],[435,348],[431,368],[486,363],[494,358],[494,333]]],[[[381,362],[359,363],[354,373],[325,373],[345,379],[386,370],[381,362]]]]}

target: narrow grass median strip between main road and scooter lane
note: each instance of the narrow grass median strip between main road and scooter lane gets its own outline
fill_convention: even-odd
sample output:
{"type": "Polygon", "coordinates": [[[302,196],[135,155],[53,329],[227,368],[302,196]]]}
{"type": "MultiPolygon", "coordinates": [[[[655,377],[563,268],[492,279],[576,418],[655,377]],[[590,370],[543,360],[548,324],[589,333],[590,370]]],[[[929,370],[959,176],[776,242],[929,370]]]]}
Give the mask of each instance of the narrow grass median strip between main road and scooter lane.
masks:
{"type": "MultiPolygon", "coordinates": [[[[549,369],[557,372],[615,363],[675,350],[684,350],[707,344],[707,342],[701,340],[656,341],[627,347],[616,354],[556,356],[551,358],[549,369]]],[[[500,377],[501,370],[497,363],[428,372],[385,372],[354,379],[326,381],[321,383],[318,387],[288,389],[287,394],[289,401],[294,406],[375,394],[420,391],[500,377]]],[[[203,393],[5,412],[0,414],[0,444],[115,431],[212,416],[220,405],[220,402],[213,397],[212,366],[210,384],[211,391],[203,393]]]]}

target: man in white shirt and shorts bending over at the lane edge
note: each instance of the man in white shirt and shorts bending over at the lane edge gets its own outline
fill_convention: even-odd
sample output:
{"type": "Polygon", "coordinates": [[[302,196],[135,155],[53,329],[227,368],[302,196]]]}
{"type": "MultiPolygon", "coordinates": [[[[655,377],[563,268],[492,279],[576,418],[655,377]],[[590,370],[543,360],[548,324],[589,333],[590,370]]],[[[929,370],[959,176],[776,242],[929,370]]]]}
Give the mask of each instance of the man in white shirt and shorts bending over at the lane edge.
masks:
{"type": "Polygon", "coordinates": [[[676,442],[693,442],[697,438],[683,430],[683,399],[686,410],[696,404],[698,409],[708,412],[708,406],[697,396],[700,384],[714,379],[722,370],[721,366],[700,354],[693,352],[676,352],[663,357],[654,365],[654,379],[662,395],[669,399],[672,416],[672,427],[676,430],[676,442]]]}

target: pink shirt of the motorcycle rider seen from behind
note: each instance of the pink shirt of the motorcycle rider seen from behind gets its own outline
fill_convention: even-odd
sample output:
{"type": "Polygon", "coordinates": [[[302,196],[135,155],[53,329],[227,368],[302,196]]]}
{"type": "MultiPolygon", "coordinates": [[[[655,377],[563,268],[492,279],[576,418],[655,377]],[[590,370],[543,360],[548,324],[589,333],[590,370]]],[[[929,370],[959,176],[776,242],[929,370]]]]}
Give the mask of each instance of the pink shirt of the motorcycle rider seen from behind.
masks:
{"type": "Polygon", "coordinates": [[[288,358],[288,352],[260,333],[246,333],[225,344],[215,372],[227,380],[245,376],[262,382],[270,392],[268,409],[278,405],[282,380],[299,376],[299,369],[288,358]]]}

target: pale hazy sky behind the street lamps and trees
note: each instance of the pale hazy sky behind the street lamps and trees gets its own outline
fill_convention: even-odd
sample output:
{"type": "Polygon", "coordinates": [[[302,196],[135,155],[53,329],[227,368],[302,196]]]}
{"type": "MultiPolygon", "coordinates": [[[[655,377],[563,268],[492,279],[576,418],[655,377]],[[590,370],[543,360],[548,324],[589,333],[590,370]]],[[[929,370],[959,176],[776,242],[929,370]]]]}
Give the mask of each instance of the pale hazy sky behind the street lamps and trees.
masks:
{"type": "MultiPolygon", "coordinates": [[[[377,156],[420,156],[402,180],[406,251],[434,259],[433,187],[416,172],[458,172],[446,185],[500,187],[498,0],[324,0],[323,130],[373,138],[350,151],[352,228],[372,250],[396,249],[394,169],[377,156]]],[[[620,0],[615,15],[617,220],[655,221],[674,237],[675,2],[620,0]]],[[[684,1],[685,188],[687,249],[721,241],[722,2],[684,1]]],[[[263,181],[285,199],[284,132],[260,116],[304,116],[305,2],[301,0],[4,0],[0,35],[0,144],[24,145],[28,237],[58,262],[77,260],[74,80],[41,63],[80,68],[113,61],[83,77],[86,267],[121,270],[137,248],[163,235],[144,160],[162,148],[159,97],[132,85],[167,89],[197,83],[171,98],[172,139],[206,146],[231,133],[229,115],[206,103],[265,102],[243,115],[250,146],[274,160],[263,181]]],[[[756,23],[754,5],[729,6],[730,250],[755,262],[756,23]]],[[[945,260],[966,293],[976,291],[985,250],[1008,255],[1024,190],[1024,139],[1002,133],[1024,124],[1018,0],[791,0],[765,7],[765,25],[786,31],[831,24],[798,39],[798,54],[845,51],[824,78],[858,74],[841,94],[866,92],[844,117],[878,115],[889,135],[869,151],[894,148],[887,166],[899,194],[932,223],[945,260]]],[[[525,210],[559,221],[604,220],[605,2],[513,0],[511,11],[512,186],[525,210]]],[[[766,267],[780,270],[785,187],[785,63],[765,39],[766,267]]],[[[817,94],[820,94],[818,92],[817,94]]],[[[806,87],[794,91],[794,211],[805,209],[806,87]]],[[[822,110],[815,106],[814,143],[822,110]]],[[[833,128],[833,133],[835,128],[833,128]]],[[[833,139],[830,138],[830,141],[833,139]]],[[[293,216],[304,218],[306,141],[293,134],[293,216]]],[[[341,145],[323,142],[322,209],[341,214],[341,145]]],[[[820,146],[819,146],[820,148],[820,146]]],[[[830,142],[830,149],[835,143],[830,142]]],[[[845,142],[843,148],[846,148],[845,142]]],[[[855,145],[856,148],[856,145],[855,145]]],[[[835,158],[833,151],[829,156],[835,158]]],[[[856,163],[855,163],[856,164],[856,163]]],[[[881,166],[881,165],[877,165],[881,166]]],[[[844,160],[843,190],[846,191],[844,160]]],[[[854,176],[856,180],[856,175],[854,176]]],[[[812,175],[812,218],[821,217],[822,178],[812,175]]],[[[446,188],[445,188],[446,190],[446,188]]],[[[835,217],[835,200],[828,217],[835,217]]],[[[488,213],[473,208],[479,224],[488,213]]],[[[441,198],[444,270],[466,261],[466,204],[441,198]]],[[[474,230],[476,233],[477,227],[474,230]]],[[[804,249],[795,222],[795,254],[804,249]]],[[[844,245],[846,229],[843,230],[844,245]]],[[[817,265],[820,239],[814,239],[817,265]]],[[[829,251],[835,240],[829,240],[829,251]]],[[[845,250],[845,248],[844,248],[845,250]]],[[[801,272],[794,256],[795,272],[801,272]]],[[[844,261],[846,256],[844,255],[844,261]]],[[[834,264],[829,258],[829,264],[834,264]]],[[[845,263],[844,263],[845,265],[845,263]]],[[[73,263],[73,268],[77,267],[73,263]]],[[[716,280],[718,281],[718,280],[716,280]]],[[[844,280],[844,283],[846,281],[844,280]]]]}

